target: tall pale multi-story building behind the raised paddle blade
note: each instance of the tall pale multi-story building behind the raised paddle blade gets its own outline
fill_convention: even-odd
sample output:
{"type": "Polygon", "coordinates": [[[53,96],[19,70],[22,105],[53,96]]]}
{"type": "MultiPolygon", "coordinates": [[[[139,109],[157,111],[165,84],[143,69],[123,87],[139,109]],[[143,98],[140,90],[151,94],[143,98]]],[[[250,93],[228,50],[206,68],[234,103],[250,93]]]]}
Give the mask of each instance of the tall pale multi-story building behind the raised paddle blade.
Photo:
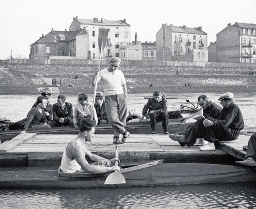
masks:
{"type": "Polygon", "coordinates": [[[99,28],[108,28],[108,40],[107,44],[102,53],[102,58],[108,59],[112,56],[119,55],[120,45],[130,43],[130,25],[126,23],[126,19],[112,21],[112,20],[103,20],[98,18],[91,19],[78,19],[73,18],[73,22],[70,25],[70,31],[76,31],[80,28],[84,28],[89,34],[89,48],[88,58],[89,59],[98,59],[100,56],[99,46],[98,46],[98,32],[99,28]]]}

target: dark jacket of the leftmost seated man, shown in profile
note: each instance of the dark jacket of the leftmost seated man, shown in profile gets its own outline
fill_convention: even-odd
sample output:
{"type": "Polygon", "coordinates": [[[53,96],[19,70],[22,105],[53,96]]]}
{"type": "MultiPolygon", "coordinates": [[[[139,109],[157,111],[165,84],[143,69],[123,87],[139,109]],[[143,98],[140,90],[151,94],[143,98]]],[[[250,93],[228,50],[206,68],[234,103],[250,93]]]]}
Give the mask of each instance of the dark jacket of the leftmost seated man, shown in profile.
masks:
{"type": "Polygon", "coordinates": [[[34,125],[42,125],[43,123],[47,123],[44,110],[41,114],[37,107],[34,107],[28,112],[28,117],[24,123],[23,130],[26,131],[28,128],[31,128],[34,125]]]}

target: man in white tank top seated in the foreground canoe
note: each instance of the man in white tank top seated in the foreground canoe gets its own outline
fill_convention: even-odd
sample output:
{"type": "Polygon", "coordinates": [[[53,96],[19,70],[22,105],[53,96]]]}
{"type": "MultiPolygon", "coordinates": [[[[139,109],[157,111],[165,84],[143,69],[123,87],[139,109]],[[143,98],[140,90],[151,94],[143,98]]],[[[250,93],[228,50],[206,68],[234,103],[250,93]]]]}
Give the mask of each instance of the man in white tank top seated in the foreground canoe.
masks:
{"type": "Polygon", "coordinates": [[[80,114],[78,116],[77,125],[80,130],[79,134],[68,143],[64,150],[60,165],[61,171],[64,173],[86,172],[94,174],[108,173],[115,170],[119,171],[120,168],[114,165],[115,161],[119,161],[118,158],[108,160],[104,157],[92,154],[86,149],[85,142],[91,141],[92,139],[96,125],[95,121],[80,114]],[[89,164],[85,156],[95,161],[95,163],[89,164]]]}

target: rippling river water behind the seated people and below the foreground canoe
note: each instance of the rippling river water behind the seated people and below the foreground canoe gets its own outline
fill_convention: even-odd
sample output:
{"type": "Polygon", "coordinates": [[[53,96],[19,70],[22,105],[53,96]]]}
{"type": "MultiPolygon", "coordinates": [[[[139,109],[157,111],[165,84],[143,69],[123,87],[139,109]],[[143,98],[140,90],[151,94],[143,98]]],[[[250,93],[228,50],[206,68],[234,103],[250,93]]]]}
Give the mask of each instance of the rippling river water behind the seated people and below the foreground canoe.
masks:
{"type": "MultiPolygon", "coordinates": [[[[167,94],[168,110],[197,101],[200,94],[167,94]]],[[[206,94],[220,104],[220,94],[206,94]]],[[[128,106],[142,111],[150,94],[129,94],[128,106]]],[[[11,121],[26,117],[36,101],[35,95],[0,95],[0,115],[11,121]]],[[[76,104],[76,95],[66,101],[76,104]]],[[[89,95],[92,100],[92,95],[89,95]]],[[[56,103],[52,95],[50,103],[56,103]]],[[[234,102],[244,116],[245,131],[256,130],[256,93],[236,93],[234,102]]],[[[256,183],[133,187],[117,189],[0,189],[0,208],[256,208],[256,183]]]]}

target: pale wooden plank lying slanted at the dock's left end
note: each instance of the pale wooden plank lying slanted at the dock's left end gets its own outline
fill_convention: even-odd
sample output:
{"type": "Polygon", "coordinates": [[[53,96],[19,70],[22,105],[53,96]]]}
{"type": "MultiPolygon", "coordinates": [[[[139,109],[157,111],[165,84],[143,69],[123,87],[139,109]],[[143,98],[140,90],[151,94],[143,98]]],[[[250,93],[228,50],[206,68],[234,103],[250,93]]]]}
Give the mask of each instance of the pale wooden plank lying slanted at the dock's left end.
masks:
{"type": "Polygon", "coordinates": [[[30,139],[34,135],[36,135],[36,133],[22,133],[16,137],[12,138],[12,140],[10,140],[6,143],[0,144],[0,153],[6,153],[7,151],[14,149],[15,147],[17,147],[24,141],[30,139]]]}

